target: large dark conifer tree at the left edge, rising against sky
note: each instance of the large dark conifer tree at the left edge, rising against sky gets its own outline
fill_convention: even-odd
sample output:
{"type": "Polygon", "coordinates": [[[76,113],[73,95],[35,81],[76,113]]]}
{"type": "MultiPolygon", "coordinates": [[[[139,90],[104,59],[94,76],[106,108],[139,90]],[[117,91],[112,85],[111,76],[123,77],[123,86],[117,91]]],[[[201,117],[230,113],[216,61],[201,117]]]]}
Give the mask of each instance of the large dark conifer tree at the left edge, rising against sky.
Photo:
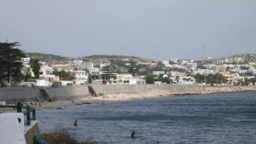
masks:
{"type": "Polygon", "coordinates": [[[22,62],[20,58],[25,57],[22,50],[18,49],[20,43],[0,43],[0,83],[4,81],[10,82],[11,77],[13,81],[20,81],[22,75],[20,69],[22,62]]]}

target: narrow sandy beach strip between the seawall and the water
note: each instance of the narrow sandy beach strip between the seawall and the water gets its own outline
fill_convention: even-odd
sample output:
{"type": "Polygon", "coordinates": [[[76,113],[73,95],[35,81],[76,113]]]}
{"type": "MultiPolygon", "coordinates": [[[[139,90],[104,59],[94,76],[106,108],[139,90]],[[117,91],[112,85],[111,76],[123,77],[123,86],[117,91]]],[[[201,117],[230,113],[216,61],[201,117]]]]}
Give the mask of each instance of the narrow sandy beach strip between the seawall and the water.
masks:
{"type": "MultiPolygon", "coordinates": [[[[256,91],[255,86],[252,88],[247,88],[246,86],[238,86],[237,88],[230,87],[222,89],[219,87],[210,87],[205,86],[202,93],[186,92],[186,93],[173,93],[165,90],[154,90],[150,92],[142,92],[137,94],[101,94],[100,96],[93,97],[89,96],[82,99],[74,100],[58,100],[53,102],[43,102],[42,107],[35,107],[36,111],[41,111],[45,109],[63,109],[65,107],[73,107],[75,105],[86,105],[86,104],[98,104],[102,105],[104,103],[116,102],[116,101],[131,101],[131,100],[143,100],[143,99],[152,99],[152,98],[161,98],[161,97],[171,97],[171,96],[186,96],[186,95],[211,95],[211,94],[225,94],[230,92],[253,92],[256,91]]],[[[13,113],[16,110],[11,108],[0,108],[0,113],[13,113]]]]}

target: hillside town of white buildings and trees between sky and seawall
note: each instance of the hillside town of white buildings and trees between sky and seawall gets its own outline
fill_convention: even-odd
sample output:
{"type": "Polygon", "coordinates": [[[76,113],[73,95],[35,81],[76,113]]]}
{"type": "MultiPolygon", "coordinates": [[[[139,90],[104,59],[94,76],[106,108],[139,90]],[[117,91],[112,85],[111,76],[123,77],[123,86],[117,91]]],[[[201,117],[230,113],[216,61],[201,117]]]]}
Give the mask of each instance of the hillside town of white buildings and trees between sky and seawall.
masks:
{"type": "MultiPolygon", "coordinates": [[[[2,54],[3,55],[3,54],[2,54]]],[[[238,54],[200,60],[148,60],[133,56],[65,58],[53,54],[24,53],[22,75],[16,68],[2,73],[1,87],[69,86],[73,84],[255,84],[256,55],[238,54]],[[32,60],[39,64],[38,76],[32,60]],[[14,69],[14,70],[12,70],[14,69]]],[[[4,67],[4,65],[2,65],[4,67]]]]}

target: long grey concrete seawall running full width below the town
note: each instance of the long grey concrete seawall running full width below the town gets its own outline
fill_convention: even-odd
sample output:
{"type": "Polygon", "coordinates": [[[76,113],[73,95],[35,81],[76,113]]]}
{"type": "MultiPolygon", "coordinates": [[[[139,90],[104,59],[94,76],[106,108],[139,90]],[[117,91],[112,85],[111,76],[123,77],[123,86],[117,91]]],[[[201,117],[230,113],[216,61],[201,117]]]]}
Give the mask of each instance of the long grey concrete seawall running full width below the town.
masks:
{"type": "Polygon", "coordinates": [[[220,92],[239,92],[256,90],[256,86],[202,86],[199,84],[89,84],[78,86],[0,88],[0,101],[17,103],[35,99],[70,100],[91,96],[91,86],[98,96],[106,94],[139,94],[146,92],[165,92],[165,94],[215,94],[220,92]]]}

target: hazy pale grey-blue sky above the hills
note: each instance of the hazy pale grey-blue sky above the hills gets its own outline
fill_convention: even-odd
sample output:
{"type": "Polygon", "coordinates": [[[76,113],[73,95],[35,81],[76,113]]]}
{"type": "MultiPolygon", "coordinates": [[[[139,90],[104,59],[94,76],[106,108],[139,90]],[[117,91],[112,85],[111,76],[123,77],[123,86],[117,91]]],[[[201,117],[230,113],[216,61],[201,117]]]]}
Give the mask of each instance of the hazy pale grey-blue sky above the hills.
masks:
{"type": "Polygon", "coordinates": [[[155,60],[256,54],[255,0],[1,0],[0,42],[155,60]]]}

